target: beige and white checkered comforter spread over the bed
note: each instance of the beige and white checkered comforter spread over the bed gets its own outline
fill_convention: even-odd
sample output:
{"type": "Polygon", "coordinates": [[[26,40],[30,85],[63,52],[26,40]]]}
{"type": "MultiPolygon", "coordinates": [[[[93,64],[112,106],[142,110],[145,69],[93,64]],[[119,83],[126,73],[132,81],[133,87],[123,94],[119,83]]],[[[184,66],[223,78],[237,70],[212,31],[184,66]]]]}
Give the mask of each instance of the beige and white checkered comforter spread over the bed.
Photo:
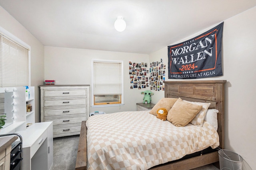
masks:
{"type": "Polygon", "coordinates": [[[146,170],[219,146],[218,133],[208,122],[175,127],[148,112],[91,116],[86,121],[88,170],[146,170]]]}

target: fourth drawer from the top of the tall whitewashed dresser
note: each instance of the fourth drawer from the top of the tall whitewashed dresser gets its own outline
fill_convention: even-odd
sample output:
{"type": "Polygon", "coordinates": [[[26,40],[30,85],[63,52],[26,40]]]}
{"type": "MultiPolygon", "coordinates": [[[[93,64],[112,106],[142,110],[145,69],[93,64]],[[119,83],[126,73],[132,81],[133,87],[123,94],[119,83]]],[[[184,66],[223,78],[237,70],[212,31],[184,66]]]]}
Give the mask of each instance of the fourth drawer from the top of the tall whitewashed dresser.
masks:
{"type": "Polygon", "coordinates": [[[44,121],[52,121],[53,125],[65,125],[70,123],[81,123],[82,121],[85,121],[86,118],[87,115],[78,117],[58,117],[54,119],[44,119],[44,121]]]}

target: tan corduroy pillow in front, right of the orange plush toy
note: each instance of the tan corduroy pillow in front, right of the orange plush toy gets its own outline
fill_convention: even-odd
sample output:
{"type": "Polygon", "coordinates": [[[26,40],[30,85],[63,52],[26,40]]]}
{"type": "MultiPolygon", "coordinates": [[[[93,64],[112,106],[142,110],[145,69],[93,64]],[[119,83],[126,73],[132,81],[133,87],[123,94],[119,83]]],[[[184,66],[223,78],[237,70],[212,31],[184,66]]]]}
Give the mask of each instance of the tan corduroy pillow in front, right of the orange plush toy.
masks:
{"type": "Polygon", "coordinates": [[[179,98],[168,112],[167,120],[177,127],[184,127],[194,119],[201,109],[202,106],[183,102],[179,98]]]}

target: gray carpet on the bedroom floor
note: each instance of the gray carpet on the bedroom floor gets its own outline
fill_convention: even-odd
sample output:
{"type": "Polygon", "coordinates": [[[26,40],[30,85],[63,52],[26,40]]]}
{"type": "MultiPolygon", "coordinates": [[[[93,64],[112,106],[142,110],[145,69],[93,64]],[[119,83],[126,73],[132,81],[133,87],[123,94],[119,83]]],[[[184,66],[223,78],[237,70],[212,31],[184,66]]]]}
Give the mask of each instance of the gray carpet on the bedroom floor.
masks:
{"type": "MultiPolygon", "coordinates": [[[[79,135],[59,137],[53,140],[53,170],[74,170],[79,135]]],[[[206,165],[193,170],[218,170],[213,165],[206,165]]]]}

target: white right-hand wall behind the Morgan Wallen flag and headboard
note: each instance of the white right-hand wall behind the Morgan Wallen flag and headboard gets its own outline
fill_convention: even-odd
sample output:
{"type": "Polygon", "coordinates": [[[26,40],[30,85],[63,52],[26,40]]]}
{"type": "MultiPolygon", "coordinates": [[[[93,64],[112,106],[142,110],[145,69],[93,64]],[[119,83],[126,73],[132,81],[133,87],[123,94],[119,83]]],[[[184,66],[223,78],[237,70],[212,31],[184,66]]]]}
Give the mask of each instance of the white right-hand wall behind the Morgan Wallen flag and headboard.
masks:
{"type": "MultiPolygon", "coordinates": [[[[244,169],[256,169],[256,7],[224,21],[222,43],[223,76],[204,80],[227,80],[225,85],[225,149],[237,152],[244,158],[244,169]]],[[[217,24],[218,25],[218,24],[217,24]]],[[[214,27],[216,25],[213,25],[214,27]]],[[[211,29],[212,27],[208,28],[211,29]]],[[[199,35],[202,30],[180,43],[199,35]]],[[[174,43],[174,44],[176,44],[174,43]]],[[[150,54],[149,61],[164,58],[168,65],[167,47],[150,54]]],[[[166,71],[167,73],[167,71],[166,71]]],[[[168,79],[166,81],[176,79],[168,79]]],[[[200,79],[203,80],[203,79],[200,79]]],[[[163,92],[154,94],[153,102],[163,92]]]]}

